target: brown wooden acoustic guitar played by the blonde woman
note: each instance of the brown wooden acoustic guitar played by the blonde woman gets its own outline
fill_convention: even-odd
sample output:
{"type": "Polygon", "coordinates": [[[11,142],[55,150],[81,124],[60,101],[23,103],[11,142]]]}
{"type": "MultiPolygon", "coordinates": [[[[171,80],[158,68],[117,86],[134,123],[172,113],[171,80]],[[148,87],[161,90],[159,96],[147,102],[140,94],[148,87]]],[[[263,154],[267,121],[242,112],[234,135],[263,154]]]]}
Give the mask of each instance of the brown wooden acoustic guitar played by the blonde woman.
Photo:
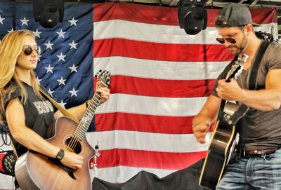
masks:
{"type": "MultiPolygon", "coordinates": [[[[100,71],[98,79],[100,87],[107,87],[110,72],[100,71]]],[[[100,100],[100,93],[96,92],[79,123],[67,117],[58,118],[53,126],[55,135],[47,140],[60,149],[84,156],[82,168],[73,170],[54,158],[27,151],[15,163],[15,177],[21,189],[92,189],[89,161],[95,151],[85,135],[100,100]]]]}

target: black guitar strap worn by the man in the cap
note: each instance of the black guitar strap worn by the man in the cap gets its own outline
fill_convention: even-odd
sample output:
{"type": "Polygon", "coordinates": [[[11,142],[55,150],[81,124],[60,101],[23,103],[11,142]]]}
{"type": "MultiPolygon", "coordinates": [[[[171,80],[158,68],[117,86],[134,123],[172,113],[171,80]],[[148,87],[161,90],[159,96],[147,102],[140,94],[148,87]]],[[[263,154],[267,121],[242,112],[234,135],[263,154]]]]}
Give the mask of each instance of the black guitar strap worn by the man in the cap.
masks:
{"type": "MultiPolygon", "coordinates": [[[[259,67],[261,66],[261,58],[263,57],[264,53],[266,52],[266,49],[268,48],[269,44],[270,44],[269,41],[261,42],[261,47],[259,48],[259,51],[256,54],[256,58],[255,58],[253,64],[251,65],[251,73],[250,73],[249,81],[248,81],[249,90],[256,90],[256,88],[257,88],[257,81],[258,81],[257,76],[258,76],[259,67]]],[[[247,113],[248,110],[249,110],[249,107],[247,107],[247,105],[245,105],[245,104],[242,104],[237,109],[237,111],[235,111],[233,116],[230,117],[230,120],[228,121],[228,123],[230,122],[231,124],[235,125],[237,123],[237,121],[239,121],[239,119],[242,118],[247,113]]]]}

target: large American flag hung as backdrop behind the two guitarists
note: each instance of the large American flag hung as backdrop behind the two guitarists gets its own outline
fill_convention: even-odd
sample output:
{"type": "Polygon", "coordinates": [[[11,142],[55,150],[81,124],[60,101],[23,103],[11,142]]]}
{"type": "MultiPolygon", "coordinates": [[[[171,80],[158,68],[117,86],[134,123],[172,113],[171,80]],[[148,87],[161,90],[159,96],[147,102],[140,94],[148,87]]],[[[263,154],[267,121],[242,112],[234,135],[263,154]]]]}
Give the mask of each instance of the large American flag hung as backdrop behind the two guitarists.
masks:
{"type": "MultiPolygon", "coordinates": [[[[100,145],[97,177],[126,182],[141,170],[164,177],[203,158],[208,144],[196,142],[191,121],[233,57],[215,40],[218,9],[207,10],[207,29],[192,36],[178,26],[175,7],[107,2],[65,8],[64,22],[44,29],[34,22],[31,4],[0,3],[0,32],[41,32],[38,80],[65,107],[91,97],[93,71],[111,72],[112,95],[96,111],[96,131],[87,134],[90,144],[100,145]],[[57,32],[66,32],[64,38],[57,32]]],[[[261,24],[257,31],[277,31],[275,8],[251,13],[261,24]]],[[[11,189],[2,185],[5,177],[0,189],[11,189]]]]}

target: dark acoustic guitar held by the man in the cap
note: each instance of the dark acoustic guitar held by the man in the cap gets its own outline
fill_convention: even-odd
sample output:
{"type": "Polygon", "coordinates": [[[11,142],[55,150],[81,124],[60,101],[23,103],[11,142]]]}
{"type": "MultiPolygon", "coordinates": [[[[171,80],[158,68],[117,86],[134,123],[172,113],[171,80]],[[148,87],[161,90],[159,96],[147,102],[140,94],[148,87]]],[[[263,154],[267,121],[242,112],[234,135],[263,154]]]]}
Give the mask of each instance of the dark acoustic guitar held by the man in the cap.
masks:
{"type": "MultiPolygon", "coordinates": [[[[236,79],[242,72],[243,64],[246,62],[248,55],[238,57],[232,65],[226,76],[226,82],[230,79],[236,79]]],[[[244,116],[247,112],[244,110],[235,123],[230,119],[235,112],[240,108],[235,102],[222,100],[214,133],[211,137],[211,143],[207,151],[207,156],[204,160],[204,165],[200,175],[199,184],[215,189],[216,185],[223,175],[223,170],[230,160],[230,156],[235,150],[235,145],[239,141],[239,133],[235,128],[235,123],[244,116]]]]}

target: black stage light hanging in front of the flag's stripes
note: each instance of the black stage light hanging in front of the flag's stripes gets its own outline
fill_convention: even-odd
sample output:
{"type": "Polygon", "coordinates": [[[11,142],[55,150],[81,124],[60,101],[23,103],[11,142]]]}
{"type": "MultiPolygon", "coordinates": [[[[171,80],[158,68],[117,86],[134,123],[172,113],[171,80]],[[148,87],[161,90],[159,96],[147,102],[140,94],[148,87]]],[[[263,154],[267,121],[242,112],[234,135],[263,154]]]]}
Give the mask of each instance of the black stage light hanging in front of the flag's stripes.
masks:
{"type": "Polygon", "coordinates": [[[206,0],[178,1],[178,22],[186,34],[198,34],[207,28],[207,11],[204,8],[206,0]]]}

